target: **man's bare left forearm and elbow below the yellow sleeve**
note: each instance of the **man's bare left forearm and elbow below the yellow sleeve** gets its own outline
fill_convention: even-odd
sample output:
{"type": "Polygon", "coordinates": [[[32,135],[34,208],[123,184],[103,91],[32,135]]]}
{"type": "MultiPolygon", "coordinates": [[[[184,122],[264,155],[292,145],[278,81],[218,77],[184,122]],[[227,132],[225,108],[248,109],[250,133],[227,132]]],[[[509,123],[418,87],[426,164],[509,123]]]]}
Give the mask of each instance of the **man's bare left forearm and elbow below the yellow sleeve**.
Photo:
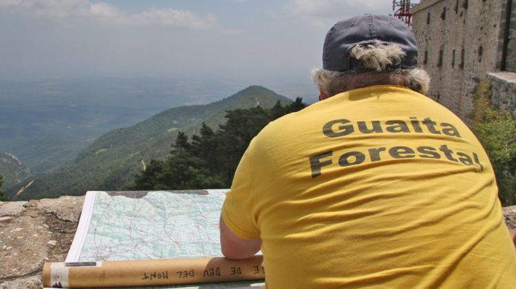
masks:
{"type": "Polygon", "coordinates": [[[255,255],[261,247],[261,239],[247,240],[235,235],[222,216],[220,217],[220,248],[228,259],[245,259],[255,255]]]}

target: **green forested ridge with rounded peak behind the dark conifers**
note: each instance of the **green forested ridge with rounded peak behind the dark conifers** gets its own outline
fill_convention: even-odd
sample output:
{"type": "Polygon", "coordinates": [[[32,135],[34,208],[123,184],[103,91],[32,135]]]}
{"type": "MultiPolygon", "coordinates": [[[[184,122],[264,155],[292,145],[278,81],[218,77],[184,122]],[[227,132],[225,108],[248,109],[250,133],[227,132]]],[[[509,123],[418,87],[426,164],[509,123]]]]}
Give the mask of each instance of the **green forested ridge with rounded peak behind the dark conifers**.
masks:
{"type": "MultiPolygon", "coordinates": [[[[151,159],[167,157],[179,130],[193,135],[200,131],[203,122],[217,128],[225,122],[228,110],[270,108],[278,100],[283,104],[292,102],[264,87],[249,86],[218,102],[171,108],[134,126],[112,130],[57,170],[25,180],[22,185],[32,180],[34,183],[19,200],[81,195],[87,190],[129,189],[136,174],[151,159]]],[[[14,194],[17,189],[11,189],[8,194],[14,194]]]]}

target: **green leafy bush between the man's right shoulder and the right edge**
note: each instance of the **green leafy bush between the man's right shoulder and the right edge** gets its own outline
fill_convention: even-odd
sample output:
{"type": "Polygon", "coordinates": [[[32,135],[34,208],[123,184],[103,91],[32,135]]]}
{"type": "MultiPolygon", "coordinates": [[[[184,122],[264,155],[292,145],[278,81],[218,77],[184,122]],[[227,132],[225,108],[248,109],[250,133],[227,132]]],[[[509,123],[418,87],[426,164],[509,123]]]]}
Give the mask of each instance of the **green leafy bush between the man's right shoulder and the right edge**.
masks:
{"type": "Polygon", "coordinates": [[[491,104],[491,85],[475,91],[471,129],[484,146],[495,170],[502,205],[516,204],[516,119],[491,104]]]}

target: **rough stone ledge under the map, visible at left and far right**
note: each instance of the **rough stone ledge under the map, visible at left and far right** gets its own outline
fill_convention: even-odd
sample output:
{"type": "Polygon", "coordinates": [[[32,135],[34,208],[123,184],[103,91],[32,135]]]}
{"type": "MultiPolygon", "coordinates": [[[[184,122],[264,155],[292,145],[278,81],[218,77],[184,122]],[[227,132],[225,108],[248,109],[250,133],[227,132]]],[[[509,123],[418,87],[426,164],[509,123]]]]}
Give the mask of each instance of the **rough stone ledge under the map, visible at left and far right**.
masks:
{"type": "MultiPolygon", "coordinates": [[[[42,288],[43,262],[65,260],[83,202],[84,196],[63,196],[0,203],[7,217],[0,217],[0,289],[42,288]]],[[[516,206],[504,208],[504,220],[516,229],[516,206]]]]}

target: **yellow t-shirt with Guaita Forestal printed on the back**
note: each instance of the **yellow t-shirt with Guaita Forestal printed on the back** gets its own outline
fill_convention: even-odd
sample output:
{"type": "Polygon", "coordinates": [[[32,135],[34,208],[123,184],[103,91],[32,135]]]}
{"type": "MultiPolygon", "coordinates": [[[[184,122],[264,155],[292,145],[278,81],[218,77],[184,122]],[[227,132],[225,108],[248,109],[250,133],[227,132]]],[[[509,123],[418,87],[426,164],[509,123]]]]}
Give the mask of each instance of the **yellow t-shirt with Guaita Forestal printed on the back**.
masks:
{"type": "Polygon", "coordinates": [[[447,108],[369,86],[271,122],[222,217],[268,288],[516,288],[491,163],[447,108]]]}

